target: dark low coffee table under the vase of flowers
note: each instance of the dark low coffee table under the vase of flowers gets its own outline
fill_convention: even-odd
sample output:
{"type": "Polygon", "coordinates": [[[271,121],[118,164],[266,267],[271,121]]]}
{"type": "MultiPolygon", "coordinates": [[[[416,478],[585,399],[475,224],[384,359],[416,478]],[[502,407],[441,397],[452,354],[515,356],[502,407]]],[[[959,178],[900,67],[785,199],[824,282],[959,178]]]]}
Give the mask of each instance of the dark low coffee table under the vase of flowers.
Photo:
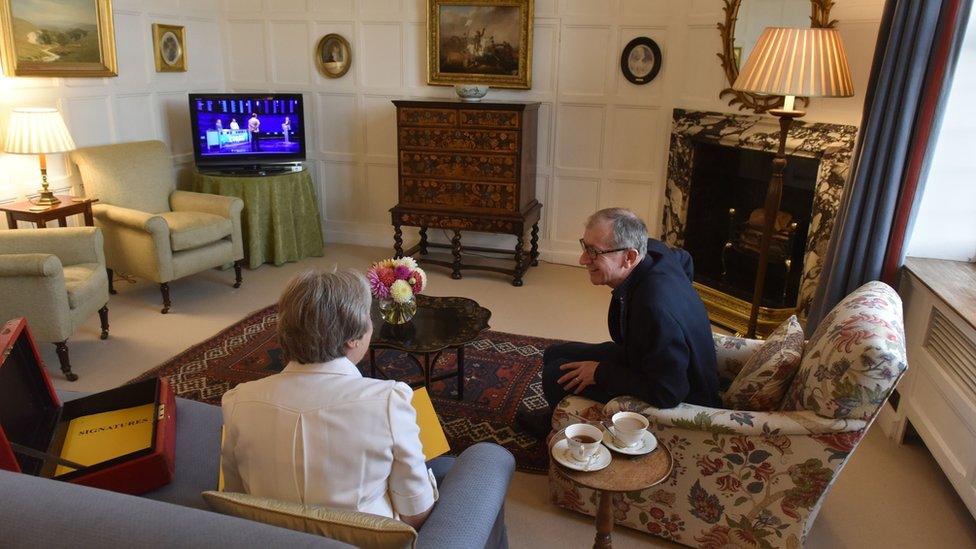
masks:
{"type": "Polygon", "coordinates": [[[373,377],[379,373],[389,379],[376,365],[376,350],[395,349],[406,353],[424,375],[423,382],[414,383],[414,388],[427,387],[433,381],[457,376],[458,400],[464,399],[464,346],[488,329],[491,311],[465,297],[421,294],[417,296],[417,314],[410,322],[387,324],[380,316],[376,300],[373,301],[371,316],[373,337],[369,342],[369,368],[373,377]],[[456,352],[457,369],[432,377],[437,359],[445,349],[456,352]]]}

